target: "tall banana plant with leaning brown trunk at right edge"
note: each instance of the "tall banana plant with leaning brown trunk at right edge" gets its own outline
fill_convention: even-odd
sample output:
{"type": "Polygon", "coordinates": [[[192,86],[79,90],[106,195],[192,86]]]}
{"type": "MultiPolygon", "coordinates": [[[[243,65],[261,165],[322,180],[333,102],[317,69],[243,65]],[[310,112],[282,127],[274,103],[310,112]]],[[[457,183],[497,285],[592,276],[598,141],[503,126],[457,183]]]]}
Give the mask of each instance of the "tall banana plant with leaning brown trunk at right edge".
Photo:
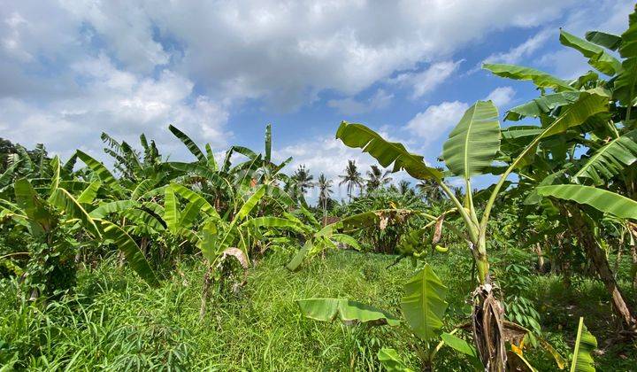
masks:
{"type": "MultiPolygon", "coordinates": [[[[543,130],[547,123],[558,120],[584,95],[597,92],[607,97],[606,109],[593,116],[581,117],[581,125],[577,128],[569,128],[559,136],[553,134],[540,143],[535,152],[543,156],[520,162],[518,174],[525,180],[521,180],[519,185],[526,184],[532,190],[526,199],[528,205],[545,203],[542,198],[552,200],[547,203],[552,203],[551,207],[564,222],[568,222],[564,223],[568,231],[579,237],[587,258],[593,262],[596,273],[609,291],[613,309],[622,320],[625,330],[634,333],[637,318],[624,300],[610,269],[605,244],[599,234],[603,230],[603,219],[594,215],[592,209],[630,220],[633,217],[626,211],[630,210],[633,200],[637,198],[637,132],[633,119],[637,97],[637,50],[634,49],[637,42],[634,32],[637,29],[637,12],[633,12],[628,20],[628,29],[622,35],[594,31],[587,33],[584,40],[564,30],[560,33],[560,42],[564,46],[578,50],[588,58],[590,66],[610,76],[610,79],[605,80],[593,71],[573,81],[562,81],[527,67],[486,65],[485,68],[499,76],[531,80],[540,89],[555,90],[555,93],[550,94],[542,90],[541,97],[514,107],[507,113],[505,118],[509,120],[538,117],[542,123],[541,128],[508,128],[507,151],[512,153],[516,151],[516,143],[528,143],[533,131],[543,130]],[[618,51],[620,59],[611,50],[618,51]],[[576,147],[587,149],[579,159],[576,147]],[[560,184],[564,182],[571,184],[560,184]],[[572,208],[572,202],[588,206],[572,208]]],[[[634,245],[632,249],[636,250],[634,245]]],[[[637,261],[633,265],[637,267],[637,261]]]]}

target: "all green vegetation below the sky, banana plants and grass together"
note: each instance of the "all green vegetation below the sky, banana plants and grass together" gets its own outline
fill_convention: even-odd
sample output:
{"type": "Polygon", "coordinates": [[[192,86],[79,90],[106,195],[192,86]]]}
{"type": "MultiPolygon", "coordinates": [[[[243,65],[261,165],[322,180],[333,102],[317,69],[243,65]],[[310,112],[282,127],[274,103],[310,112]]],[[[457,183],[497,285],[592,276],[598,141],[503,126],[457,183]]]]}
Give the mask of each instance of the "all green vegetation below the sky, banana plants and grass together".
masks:
{"type": "Polygon", "coordinates": [[[347,200],[286,174],[270,126],[223,159],[170,126],[190,162],[102,134],[111,167],[0,141],[3,370],[634,368],[637,12],[560,42],[595,71],[485,65],[539,96],[524,124],[472,105],[445,168],[342,122],[378,161],[349,160],[347,200]]]}

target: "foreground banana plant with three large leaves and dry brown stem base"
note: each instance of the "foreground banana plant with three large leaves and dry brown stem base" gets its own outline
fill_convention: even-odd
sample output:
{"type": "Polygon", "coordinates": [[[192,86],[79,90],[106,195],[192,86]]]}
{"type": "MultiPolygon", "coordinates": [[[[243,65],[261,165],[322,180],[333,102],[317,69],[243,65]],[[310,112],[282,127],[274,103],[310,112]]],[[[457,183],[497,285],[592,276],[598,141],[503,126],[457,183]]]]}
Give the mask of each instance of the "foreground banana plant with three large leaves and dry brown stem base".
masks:
{"type": "MultiPolygon", "coordinates": [[[[555,81],[554,81],[555,82],[555,81]]],[[[561,84],[554,84],[562,87],[561,84]]],[[[498,156],[502,131],[498,111],[492,102],[479,101],[472,105],[449,134],[443,145],[442,158],[450,174],[464,179],[464,200],[459,200],[444,181],[443,174],[429,167],[422,156],[413,154],[402,143],[392,143],[362,124],[343,121],[336,138],[353,148],[360,148],[377,159],[381,166],[393,171],[404,170],[418,180],[432,180],[440,185],[457,208],[464,221],[464,238],[477,267],[479,285],[473,291],[473,338],[480,360],[488,370],[503,370],[506,363],[505,335],[503,333],[503,306],[494,296],[487,258],[487,223],[495,199],[510,174],[534,154],[537,146],[550,136],[564,133],[582,125],[585,120],[608,110],[609,96],[602,90],[582,91],[579,98],[565,105],[561,114],[543,128],[504,167],[498,182],[490,192],[484,208],[479,211],[473,201],[472,176],[491,172],[498,156]],[[480,215],[479,215],[480,214],[480,215]],[[495,337],[494,337],[495,335],[495,337]]]]}

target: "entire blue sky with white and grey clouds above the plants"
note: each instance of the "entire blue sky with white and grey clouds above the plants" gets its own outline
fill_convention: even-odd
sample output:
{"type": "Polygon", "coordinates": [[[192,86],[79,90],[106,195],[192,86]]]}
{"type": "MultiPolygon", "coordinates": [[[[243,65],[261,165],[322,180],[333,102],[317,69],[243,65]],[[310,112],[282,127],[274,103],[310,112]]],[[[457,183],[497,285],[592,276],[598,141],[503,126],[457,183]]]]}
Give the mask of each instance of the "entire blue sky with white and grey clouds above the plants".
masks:
{"type": "Polygon", "coordinates": [[[575,77],[590,68],[560,45],[559,27],[620,34],[633,6],[0,0],[0,136],[44,143],[63,159],[81,149],[107,160],[101,132],[137,146],[144,133],[163,155],[188,160],[171,123],[219,154],[233,144],[263,151],[272,123],[273,156],[294,158],[289,173],[303,164],[338,183],[348,159],[363,173],[375,164],[334,139],[347,120],[437,165],[476,100],[493,100],[503,114],[536,96],[531,83],[496,77],[482,63],[575,77]]]}

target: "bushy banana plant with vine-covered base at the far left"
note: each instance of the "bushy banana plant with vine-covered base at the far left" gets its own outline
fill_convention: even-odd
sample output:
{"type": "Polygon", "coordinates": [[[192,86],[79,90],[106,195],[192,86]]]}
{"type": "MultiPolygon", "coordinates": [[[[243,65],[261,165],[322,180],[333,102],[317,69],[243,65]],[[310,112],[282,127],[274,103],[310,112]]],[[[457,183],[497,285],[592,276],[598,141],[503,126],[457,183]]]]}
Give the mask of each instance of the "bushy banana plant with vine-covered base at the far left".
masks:
{"type": "Polygon", "coordinates": [[[15,203],[2,200],[0,206],[0,221],[13,221],[32,238],[26,281],[33,287],[31,297],[58,295],[73,286],[74,258],[81,246],[77,236],[86,236],[93,244],[115,244],[144,280],[157,285],[149,262],[126,231],[111,221],[94,218],[85,209],[95,198],[97,183],[88,184],[76,198],[63,187],[67,182],[61,178],[58,157],[50,161],[50,167],[49,186],[35,189],[20,178],[13,184],[15,203]]]}

